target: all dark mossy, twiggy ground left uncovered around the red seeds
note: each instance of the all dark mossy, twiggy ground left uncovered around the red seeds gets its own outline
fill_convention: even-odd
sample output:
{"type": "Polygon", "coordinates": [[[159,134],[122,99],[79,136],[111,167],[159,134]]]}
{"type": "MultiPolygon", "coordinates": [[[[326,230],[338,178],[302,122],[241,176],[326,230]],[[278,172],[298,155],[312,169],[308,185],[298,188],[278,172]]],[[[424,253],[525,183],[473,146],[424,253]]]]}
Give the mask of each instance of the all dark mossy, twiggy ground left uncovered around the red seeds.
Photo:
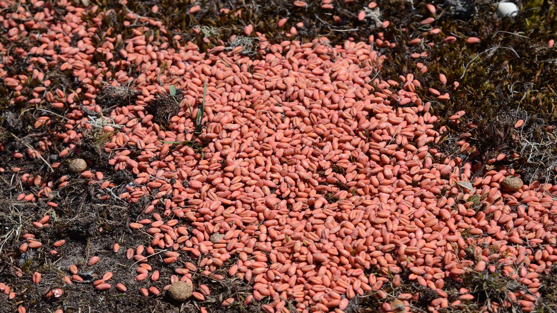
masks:
{"type": "MultiPolygon", "coordinates": [[[[48,2],[48,1],[47,1],[48,2]]],[[[85,2],[82,0],[82,2],[85,2]]],[[[87,1],[89,2],[89,1],[87,1]]],[[[120,24],[121,14],[125,11],[122,4],[116,1],[91,1],[97,3],[100,10],[115,9],[113,27],[129,36],[128,30],[120,24]]],[[[218,45],[218,41],[230,35],[241,35],[243,27],[252,24],[253,27],[265,33],[269,40],[280,41],[284,28],[276,27],[278,19],[288,17],[291,21],[304,22],[299,28],[297,40],[309,41],[317,36],[326,36],[332,43],[341,43],[348,38],[356,41],[367,41],[370,35],[378,36],[380,29],[372,29],[369,21],[359,22],[356,18],[367,3],[358,4],[339,2],[334,12],[319,8],[319,1],[309,1],[306,8],[293,7],[290,1],[201,1],[201,11],[189,14],[192,7],[189,1],[137,1],[131,2],[126,9],[141,16],[162,20],[169,30],[180,33],[184,41],[192,40],[199,47],[208,49],[218,45]],[[151,8],[157,4],[159,13],[155,14],[151,8]],[[233,14],[220,14],[219,9],[229,8],[233,14]],[[334,22],[332,16],[341,17],[341,22],[334,22]],[[191,28],[201,25],[201,33],[191,31],[191,28]],[[207,37],[206,40],[203,40],[207,37]]],[[[434,1],[438,8],[436,25],[442,29],[438,35],[429,35],[436,45],[429,47],[423,43],[418,46],[408,46],[407,42],[417,34],[427,32],[432,27],[422,26],[419,22],[428,16],[426,3],[421,1],[385,1],[380,4],[382,20],[389,20],[391,25],[385,32],[385,40],[396,43],[394,48],[378,48],[381,55],[385,55],[384,68],[378,72],[381,79],[397,77],[401,73],[414,72],[417,80],[423,85],[436,87],[443,93],[438,82],[438,75],[444,74],[449,82],[460,82],[461,88],[452,95],[451,101],[439,102],[436,97],[428,94],[427,90],[417,90],[424,101],[432,101],[432,108],[439,117],[438,125],[447,125],[449,116],[456,111],[465,110],[467,121],[478,127],[471,131],[469,142],[477,147],[477,153],[459,155],[468,158],[494,158],[500,153],[512,155],[520,154],[515,159],[507,158],[505,165],[515,168],[525,181],[548,181],[555,183],[555,167],[557,167],[557,138],[555,131],[548,126],[557,126],[557,96],[554,88],[557,86],[557,50],[548,48],[548,41],[556,38],[557,12],[551,1],[528,0],[520,1],[520,13],[514,18],[499,18],[495,14],[495,3],[488,1],[434,1]],[[443,44],[446,36],[457,38],[478,37],[481,42],[467,45],[464,40],[443,44]],[[427,51],[427,57],[414,59],[414,52],[427,51]],[[421,62],[428,70],[424,74],[417,68],[421,62]],[[525,126],[517,132],[513,126],[517,119],[525,120],[525,126]]],[[[3,10],[9,10],[4,8],[3,10]]],[[[2,30],[4,32],[4,30],[2,30]]],[[[25,48],[25,41],[7,42],[2,36],[2,44],[6,47],[16,46],[25,48]]],[[[249,46],[249,42],[244,43],[249,46]]],[[[12,50],[13,51],[13,50],[12,50]]],[[[246,53],[257,57],[255,50],[246,53]]],[[[8,55],[10,50],[8,49],[8,55]]],[[[6,57],[6,53],[2,55],[6,57]]],[[[26,67],[25,60],[14,62],[8,72],[21,71],[26,67]]],[[[51,73],[52,80],[61,88],[75,89],[75,82],[62,73],[51,73]]],[[[450,86],[449,86],[450,87],[450,86]]],[[[448,87],[447,87],[448,88],[448,87]]],[[[131,93],[131,92],[130,92],[131,93]]],[[[6,169],[0,173],[0,281],[11,282],[18,297],[8,301],[2,299],[0,312],[14,312],[19,305],[27,307],[31,312],[53,312],[63,309],[65,312],[189,312],[197,310],[194,301],[179,304],[168,296],[142,297],[137,292],[95,292],[90,284],[94,277],[84,283],[64,285],[64,294],[55,301],[44,300],[48,288],[62,286],[61,278],[68,275],[67,268],[71,264],[80,265],[87,270],[86,262],[90,256],[100,257],[99,263],[91,267],[91,273],[102,270],[112,271],[115,275],[129,277],[124,284],[134,289],[137,282],[133,280],[134,260],[127,260],[123,253],[112,253],[115,242],[122,247],[145,246],[149,242],[144,236],[131,231],[128,225],[135,221],[143,211],[147,200],[137,204],[128,204],[117,198],[99,200],[99,194],[88,185],[85,179],[72,174],[64,163],[66,159],[80,155],[93,160],[91,170],[100,170],[116,185],[123,188],[133,180],[133,176],[125,171],[114,172],[106,165],[108,156],[102,150],[102,134],[89,134],[81,144],[61,158],[58,156],[63,146],[56,141],[48,148],[42,159],[15,159],[16,151],[26,150],[27,145],[35,145],[37,141],[49,131],[61,128],[65,109],[48,113],[52,118],[49,128],[35,129],[35,116],[43,112],[29,109],[23,105],[10,105],[7,101],[9,90],[0,84],[0,141],[4,150],[0,154],[0,167],[6,169]],[[47,163],[61,162],[61,166],[52,170],[47,163]],[[51,194],[50,199],[40,198],[35,203],[16,200],[19,193],[36,192],[33,188],[21,182],[18,174],[8,169],[18,167],[22,171],[49,180],[60,179],[63,175],[70,175],[71,183],[66,188],[51,194]],[[40,230],[32,226],[46,213],[51,212],[48,201],[58,203],[55,214],[51,216],[50,227],[40,230]],[[49,211],[50,210],[50,211],[49,211]],[[58,253],[51,255],[45,248],[29,250],[20,253],[18,248],[23,242],[22,234],[31,232],[39,234],[43,242],[53,242],[66,239],[66,244],[59,248],[58,253]],[[41,271],[43,279],[38,285],[31,282],[33,272],[41,271]],[[52,273],[58,273],[52,275],[52,273]],[[57,278],[52,278],[57,277],[57,278]]],[[[114,105],[121,105],[129,101],[130,94],[109,95],[102,106],[108,109],[114,105]]],[[[164,114],[160,113],[160,114],[164,114]]],[[[462,123],[461,125],[465,125],[462,123]]],[[[449,127],[450,131],[439,149],[448,154],[460,154],[456,142],[459,136],[468,131],[461,126],[449,127]]],[[[502,164],[500,164],[502,165],[502,164]]],[[[114,192],[116,193],[117,190],[114,192]]],[[[108,192],[107,192],[108,194],[108,192]]],[[[155,258],[156,259],[156,258],[155,258]]],[[[192,262],[196,262],[193,261],[192,262]]],[[[172,266],[164,265],[162,258],[152,265],[162,268],[161,279],[152,283],[162,288],[169,283],[173,271],[172,266]]],[[[222,312],[220,304],[228,297],[243,300],[250,292],[250,286],[239,279],[214,281],[196,273],[197,284],[205,283],[212,289],[211,296],[203,302],[209,311],[222,312]]],[[[557,310],[555,299],[554,274],[546,276],[541,287],[542,299],[536,310],[539,312],[554,312],[557,310]]],[[[143,286],[144,284],[141,284],[143,286]]],[[[446,287],[446,290],[457,290],[462,285],[446,287]]],[[[505,290],[513,290],[517,286],[504,277],[495,274],[468,277],[464,286],[477,286],[473,293],[476,300],[464,311],[476,312],[490,299],[505,297],[505,290]],[[510,285],[509,285],[510,284],[510,285]]],[[[426,311],[429,302],[437,295],[428,295],[426,288],[408,283],[407,285],[388,286],[385,291],[391,295],[403,292],[422,292],[422,298],[413,303],[416,311],[426,311]]],[[[374,312],[384,300],[378,300],[374,293],[370,293],[351,300],[346,312],[374,312]]],[[[260,311],[260,305],[254,301],[250,306],[237,305],[229,307],[228,311],[260,311]]],[[[513,307],[514,308],[514,307],[513,307]]]]}

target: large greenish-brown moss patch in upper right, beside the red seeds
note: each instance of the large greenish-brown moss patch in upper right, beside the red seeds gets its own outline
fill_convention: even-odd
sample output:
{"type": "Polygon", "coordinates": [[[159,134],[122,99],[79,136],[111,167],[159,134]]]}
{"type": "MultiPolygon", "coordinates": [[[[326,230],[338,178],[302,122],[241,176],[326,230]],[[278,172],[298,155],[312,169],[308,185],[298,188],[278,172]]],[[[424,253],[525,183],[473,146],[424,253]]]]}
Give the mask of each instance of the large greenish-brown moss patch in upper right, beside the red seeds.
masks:
{"type": "Polygon", "coordinates": [[[389,57],[384,63],[385,74],[380,77],[396,80],[398,75],[410,72],[421,82],[423,87],[417,94],[431,102],[433,114],[439,118],[437,125],[449,127],[446,140],[437,146],[440,151],[452,156],[461,154],[456,141],[461,134],[470,132],[468,141],[475,146],[476,153],[459,155],[464,160],[485,162],[505,153],[507,158],[494,165],[514,167],[525,182],[536,179],[554,182],[557,145],[555,131],[547,126],[555,126],[557,122],[553,90],[557,83],[553,75],[556,65],[552,61],[557,52],[549,49],[547,42],[557,26],[555,5],[549,1],[525,1],[519,16],[500,19],[495,16],[492,4],[481,1],[475,4],[477,12],[472,12],[466,21],[438,13],[434,27],[441,28],[442,32],[435,36],[427,34],[428,28],[418,23],[429,16],[424,4],[417,6],[416,17],[408,16],[408,7],[394,17],[389,16],[394,11],[383,9],[394,25],[408,27],[385,35],[390,33],[388,39],[397,42],[397,47],[386,51],[389,57]],[[405,45],[420,35],[425,35],[425,42],[433,42],[435,46],[405,45]],[[456,42],[442,42],[443,37],[452,35],[458,37],[456,42]],[[465,39],[472,36],[481,38],[481,42],[467,45],[465,39]],[[427,51],[429,56],[417,60],[410,57],[411,53],[422,51],[427,51]],[[418,61],[427,66],[426,73],[417,68],[418,61]],[[447,76],[447,85],[438,80],[439,74],[447,76]],[[454,81],[460,87],[455,89],[454,81]],[[429,87],[441,94],[449,92],[451,100],[438,101],[427,93],[429,87]],[[460,110],[467,113],[460,124],[447,123],[449,116],[460,110]],[[524,119],[526,124],[515,130],[518,119],[524,119]],[[468,123],[476,128],[469,129],[468,123]],[[520,156],[511,158],[513,153],[520,156]]]}

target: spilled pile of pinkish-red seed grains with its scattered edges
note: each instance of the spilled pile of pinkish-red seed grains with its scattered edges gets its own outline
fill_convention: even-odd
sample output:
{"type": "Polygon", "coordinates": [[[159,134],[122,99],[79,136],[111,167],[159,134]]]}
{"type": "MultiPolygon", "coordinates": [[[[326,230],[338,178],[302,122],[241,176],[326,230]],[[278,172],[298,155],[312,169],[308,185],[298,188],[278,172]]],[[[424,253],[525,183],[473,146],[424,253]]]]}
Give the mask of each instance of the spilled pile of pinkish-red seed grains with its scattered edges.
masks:
{"type": "MultiPolygon", "coordinates": [[[[0,1],[2,8],[14,5],[0,1]]],[[[226,267],[229,276],[241,277],[253,287],[243,305],[265,301],[266,312],[289,312],[286,301],[292,301],[300,312],[340,313],[356,295],[377,291],[387,297],[382,285],[391,281],[397,286],[407,277],[437,292],[438,298],[428,307],[436,312],[473,299],[461,288],[458,300],[449,303],[443,291],[447,281],[462,282],[471,271],[501,270],[529,292],[509,291],[509,300],[492,302],[484,310],[510,307],[511,302],[522,311],[533,310],[538,277],[557,261],[553,229],[557,186],[526,185],[514,179],[519,183],[511,187],[503,183],[513,180],[509,177],[514,172],[506,168],[472,179],[482,164],[449,159],[431,148],[444,126],[436,130],[431,104],[422,103],[414,92],[422,86],[412,74],[401,75],[398,81],[372,78],[384,57],[368,43],[332,46],[326,38],[271,43],[256,32],[262,56],[253,59],[242,56],[241,48],[223,45],[200,52],[191,42],[171,45],[167,37],[155,40],[145,33],[154,29],[167,33],[162,22],[133,12],[128,13],[126,26],[134,21],[146,26],[136,27],[131,38],[102,27],[110,11],[100,12],[97,6],[80,8],[60,0],[54,8],[31,1],[19,4],[15,13],[7,12],[0,15],[5,36],[35,42],[30,51],[15,48],[28,62],[25,74],[9,76],[3,67],[16,60],[2,60],[0,77],[13,91],[9,101],[50,106],[53,111],[70,108],[63,116],[65,131],[53,134],[66,144],[61,158],[85,131],[111,132],[105,145],[109,164],[115,171],[131,171],[135,180],[123,192],[101,199],[119,197],[137,203],[143,197],[154,198],[129,224],[141,229],[150,245],[114,244],[114,253],[126,253],[139,265],[136,281],[159,279],[149,258],[162,253],[164,263],[178,264],[171,282],[192,282],[192,272],[198,270],[222,280],[217,272],[226,267]],[[65,10],[63,21],[53,18],[54,9],[65,10]],[[95,17],[85,19],[85,14],[95,17]],[[92,38],[100,29],[104,37],[94,45],[92,38]],[[44,72],[53,68],[71,72],[80,87],[71,92],[52,88],[44,72]],[[32,89],[30,80],[36,85],[32,89]],[[100,114],[97,95],[108,87],[125,86],[138,92],[135,103],[117,106],[109,116],[100,114]],[[179,105],[178,114],[166,125],[154,123],[149,111],[162,97],[179,105]],[[467,253],[473,260],[465,258],[467,253]],[[197,263],[185,262],[185,257],[197,263]],[[233,265],[228,263],[231,259],[236,260],[233,265]]],[[[358,16],[365,17],[365,12],[358,16]]],[[[383,28],[388,25],[382,23],[383,28]]],[[[246,35],[253,31],[250,26],[246,35]]],[[[295,36],[295,31],[289,35],[295,36]]],[[[172,39],[178,42],[180,37],[172,39]]],[[[468,38],[470,43],[476,40],[468,38]]],[[[439,80],[447,84],[444,76],[439,80]]],[[[458,82],[453,86],[457,88],[458,82]]],[[[429,92],[439,100],[449,99],[449,94],[429,92]]],[[[449,120],[460,123],[463,114],[449,120]]],[[[50,123],[45,114],[35,127],[50,123]]],[[[44,136],[38,146],[14,153],[13,158],[41,158],[52,139],[44,136]]],[[[465,140],[459,144],[462,151],[470,149],[465,140]]],[[[61,163],[49,166],[58,168],[61,163]]],[[[17,197],[32,202],[49,198],[52,190],[64,188],[71,179],[65,175],[46,182],[19,168],[0,170],[39,187],[38,193],[17,197]]],[[[105,180],[105,174],[85,170],[80,177],[95,188],[112,190],[115,184],[105,180]]],[[[57,208],[54,202],[48,204],[57,208]]],[[[47,214],[33,226],[40,231],[49,219],[47,214]]],[[[28,233],[23,238],[22,253],[43,246],[40,236],[28,233]]],[[[64,243],[56,241],[48,248],[55,255],[64,243]]],[[[93,256],[87,265],[97,261],[99,257],[93,256]]],[[[65,283],[83,281],[75,265],[68,271],[72,276],[65,276],[65,283]]],[[[148,283],[140,290],[128,290],[119,278],[108,272],[92,285],[103,291],[114,284],[120,292],[143,296],[162,292],[148,283]]],[[[40,280],[41,273],[33,274],[33,283],[40,280]]],[[[0,289],[9,299],[17,298],[18,291],[8,285],[0,283],[0,289]]],[[[52,288],[45,296],[55,299],[62,292],[52,288]]],[[[193,291],[200,302],[209,294],[205,285],[193,291]]],[[[412,311],[409,301],[419,297],[398,295],[398,302],[384,302],[381,309],[412,311]]],[[[229,298],[222,305],[234,301],[229,298]]],[[[25,311],[19,307],[19,312],[25,311]]]]}

